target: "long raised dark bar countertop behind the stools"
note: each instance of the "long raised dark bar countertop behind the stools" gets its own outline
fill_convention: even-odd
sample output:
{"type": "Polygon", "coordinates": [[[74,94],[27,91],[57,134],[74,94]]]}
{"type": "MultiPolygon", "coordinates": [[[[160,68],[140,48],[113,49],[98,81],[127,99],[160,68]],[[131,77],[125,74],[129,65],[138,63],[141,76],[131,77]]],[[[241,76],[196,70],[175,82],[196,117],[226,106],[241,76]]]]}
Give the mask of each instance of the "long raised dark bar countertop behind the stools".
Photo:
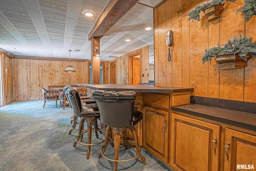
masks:
{"type": "Polygon", "coordinates": [[[123,85],[123,84],[76,84],[91,89],[102,89],[106,91],[135,91],[143,93],[178,93],[194,91],[194,88],[184,87],[160,87],[148,85],[123,85]]]}

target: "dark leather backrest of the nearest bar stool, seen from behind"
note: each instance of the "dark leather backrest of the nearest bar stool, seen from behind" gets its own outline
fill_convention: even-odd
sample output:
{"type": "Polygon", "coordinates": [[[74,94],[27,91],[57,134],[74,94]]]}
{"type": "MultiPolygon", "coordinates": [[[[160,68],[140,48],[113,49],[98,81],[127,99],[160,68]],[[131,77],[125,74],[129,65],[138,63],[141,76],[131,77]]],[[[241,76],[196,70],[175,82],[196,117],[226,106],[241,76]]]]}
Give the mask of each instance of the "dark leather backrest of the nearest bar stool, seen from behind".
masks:
{"type": "Polygon", "coordinates": [[[95,90],[101,122],[111,127],[131,127],[136,93],[134,91],[95,90]]]}

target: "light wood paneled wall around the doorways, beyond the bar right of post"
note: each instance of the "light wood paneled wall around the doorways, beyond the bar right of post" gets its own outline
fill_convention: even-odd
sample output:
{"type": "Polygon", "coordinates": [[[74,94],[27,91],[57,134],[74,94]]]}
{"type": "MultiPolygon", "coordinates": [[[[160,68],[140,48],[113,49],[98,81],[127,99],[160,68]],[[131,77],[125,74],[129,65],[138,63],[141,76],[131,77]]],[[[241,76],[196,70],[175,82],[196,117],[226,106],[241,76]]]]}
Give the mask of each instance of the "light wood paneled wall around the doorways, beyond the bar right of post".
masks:
{"type": "MultiPolygon", "coordinates": [[[[116,84],[129,84],[129,57],[132,54],[137,52],[141,52],[140,56],[140,66],[141,66],[141,82],[148,83],[149,80],[149,46],[145,46],[144,48],[140,48],[114,60],[109,61],[113,62],[116,61],[116,84]],[[146,68],[146,70],[144,70],[146,68]],[[144,77],[142,77],[144,74],[144,77]]],[[[110,64],[109,64],[110,65],[110,64]]],[[[110,66],[108,67],[110,68],[110,66]]],[[[110,71],[109,74],[110,75],[110,71]]]]}

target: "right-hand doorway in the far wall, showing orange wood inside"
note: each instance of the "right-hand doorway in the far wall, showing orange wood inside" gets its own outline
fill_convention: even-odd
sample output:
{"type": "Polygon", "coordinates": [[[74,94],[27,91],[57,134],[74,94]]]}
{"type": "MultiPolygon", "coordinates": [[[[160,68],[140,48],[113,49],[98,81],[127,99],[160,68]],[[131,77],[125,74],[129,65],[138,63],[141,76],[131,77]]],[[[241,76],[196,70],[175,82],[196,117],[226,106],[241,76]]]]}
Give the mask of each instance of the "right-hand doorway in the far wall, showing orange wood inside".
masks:
{"type": "Polygon", "coordinates": [[[141,83],[140,54],[141,52],[129,55],[130,85],[139,85],[141,83]]]}

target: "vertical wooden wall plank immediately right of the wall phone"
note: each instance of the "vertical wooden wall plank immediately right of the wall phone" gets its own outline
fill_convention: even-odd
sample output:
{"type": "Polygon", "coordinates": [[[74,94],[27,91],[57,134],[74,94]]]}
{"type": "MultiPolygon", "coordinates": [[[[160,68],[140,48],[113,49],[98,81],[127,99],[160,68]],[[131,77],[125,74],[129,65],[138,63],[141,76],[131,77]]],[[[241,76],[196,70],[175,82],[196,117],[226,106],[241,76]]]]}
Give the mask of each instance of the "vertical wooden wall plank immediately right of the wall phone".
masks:
{"type": "MultiPolygon", "coordinates": [[[[172,86],[182,87],[182,15],[181,0],[172,1],[172,86]]],[[[168,68],[168,67],[167,67],[168,68]]]]}

